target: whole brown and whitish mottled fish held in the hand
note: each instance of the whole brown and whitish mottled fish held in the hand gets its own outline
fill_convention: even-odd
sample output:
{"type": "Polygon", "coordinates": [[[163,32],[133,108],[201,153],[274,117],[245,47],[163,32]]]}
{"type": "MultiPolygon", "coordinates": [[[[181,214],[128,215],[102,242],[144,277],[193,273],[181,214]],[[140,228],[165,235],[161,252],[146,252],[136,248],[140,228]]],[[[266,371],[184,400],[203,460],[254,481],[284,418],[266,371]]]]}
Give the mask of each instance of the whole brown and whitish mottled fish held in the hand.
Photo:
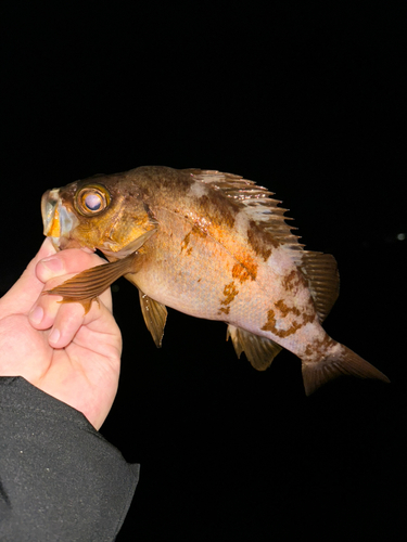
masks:
{"type": "Polygon", "coordinates": [[[44,235],[58,250],[98,249],[109,262],[46,294],[87,312],[125,276],[157,347],[171,307],[225,322],[237,356],[244,352],[257,371],[282,349],[294,353],[307,396],[341,375],[390,382],[323,330],[339,295],[336,261],[304,248],[274,195],[238,175],[164,166],[49,190],[44,235]]]}

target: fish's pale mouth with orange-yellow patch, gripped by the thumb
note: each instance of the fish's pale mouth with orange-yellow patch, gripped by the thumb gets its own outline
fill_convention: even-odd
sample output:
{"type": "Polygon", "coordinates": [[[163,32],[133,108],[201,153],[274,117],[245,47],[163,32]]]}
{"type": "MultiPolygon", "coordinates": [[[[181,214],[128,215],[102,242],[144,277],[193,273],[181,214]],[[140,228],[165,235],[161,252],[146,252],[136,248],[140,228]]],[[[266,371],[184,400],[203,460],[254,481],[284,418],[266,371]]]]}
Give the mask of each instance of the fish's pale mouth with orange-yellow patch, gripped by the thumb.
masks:
{"type": "Polygon", "coordinates": [[[75,215],[61,201],[60,189],[48,190],[41,199],[43,234],[51,237],[56,250],[65,247],[71,232],[79,223],[75,215]]]}

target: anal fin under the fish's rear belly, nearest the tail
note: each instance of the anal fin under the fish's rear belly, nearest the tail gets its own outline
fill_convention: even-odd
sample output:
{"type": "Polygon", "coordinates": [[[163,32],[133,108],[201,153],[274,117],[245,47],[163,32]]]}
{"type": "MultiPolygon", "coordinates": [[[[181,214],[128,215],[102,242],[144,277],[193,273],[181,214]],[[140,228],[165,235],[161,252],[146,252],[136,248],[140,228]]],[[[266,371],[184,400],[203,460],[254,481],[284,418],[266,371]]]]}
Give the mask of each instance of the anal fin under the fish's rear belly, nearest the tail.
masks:
{"type": "Polygon", "coordinates": [[[252,366],[257,371],[265,371],[271,365],[271,361],[281,351],[281,346],[270,339],[254,335],[241,327],[228,325],[226,340],[231,337],[234,351],[240,359],[240,354],[244,352],[252,366]]]}

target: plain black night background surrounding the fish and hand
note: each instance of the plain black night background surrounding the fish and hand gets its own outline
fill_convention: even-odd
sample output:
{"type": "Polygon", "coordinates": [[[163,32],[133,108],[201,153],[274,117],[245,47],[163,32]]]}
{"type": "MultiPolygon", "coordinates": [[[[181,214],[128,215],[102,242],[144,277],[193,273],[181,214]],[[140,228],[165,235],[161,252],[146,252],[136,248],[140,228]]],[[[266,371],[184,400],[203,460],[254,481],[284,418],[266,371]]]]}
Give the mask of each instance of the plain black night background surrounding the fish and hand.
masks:
{"type": "MultiPolygon", "coordinates": [[[[327,331],[382,370],[305,398],[301,363],[237,360],[226,326],[137,291],[102,434],[141,463],[118,541],[405,540],[406,25],[391,2],[18,2],[1,8],[1,291],[49,188],[141,165],[243,175],[339,262],[327,331]]],[[[117,289],[118,288],[118,289],[117,289]]],[[[193,293],[191,293],[193,295],[193,293]]]]}

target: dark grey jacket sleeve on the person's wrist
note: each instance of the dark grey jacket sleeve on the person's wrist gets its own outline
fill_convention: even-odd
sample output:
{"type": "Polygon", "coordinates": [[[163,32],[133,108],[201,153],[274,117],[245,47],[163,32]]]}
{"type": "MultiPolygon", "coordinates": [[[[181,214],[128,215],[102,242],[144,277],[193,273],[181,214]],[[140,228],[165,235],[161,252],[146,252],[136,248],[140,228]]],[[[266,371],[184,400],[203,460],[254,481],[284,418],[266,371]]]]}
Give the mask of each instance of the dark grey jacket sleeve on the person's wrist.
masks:
{"type": "Polygon", "coordinates": [[[0,377],[1,542],[112,541],[138,465],[77,410],[22,377],[0,377]]]}

